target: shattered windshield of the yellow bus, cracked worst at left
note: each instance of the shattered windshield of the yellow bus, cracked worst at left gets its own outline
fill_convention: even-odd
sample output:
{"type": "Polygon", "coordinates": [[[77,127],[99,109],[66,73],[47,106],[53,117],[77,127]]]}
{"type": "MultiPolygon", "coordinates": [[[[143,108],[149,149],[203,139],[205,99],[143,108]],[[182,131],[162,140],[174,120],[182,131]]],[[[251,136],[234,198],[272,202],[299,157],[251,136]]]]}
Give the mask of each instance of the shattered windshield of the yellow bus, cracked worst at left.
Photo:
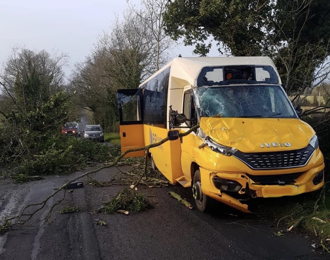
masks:
{"type": "Polygon", "coordinates": [[[296,118],[279,85],[199,87],[203,117],[296,118]]]}

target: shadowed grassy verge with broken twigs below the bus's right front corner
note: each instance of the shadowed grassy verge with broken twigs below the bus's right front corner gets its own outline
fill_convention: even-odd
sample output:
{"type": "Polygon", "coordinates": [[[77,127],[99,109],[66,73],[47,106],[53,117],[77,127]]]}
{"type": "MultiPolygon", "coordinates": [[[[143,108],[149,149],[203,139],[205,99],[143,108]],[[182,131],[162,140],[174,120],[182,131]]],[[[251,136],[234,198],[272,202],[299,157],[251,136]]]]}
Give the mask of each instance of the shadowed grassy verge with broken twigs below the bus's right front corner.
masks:
{"type": "Polygon", "coordinates": [[[275,227],[288,230],[301,220],[292,230],[299,229],[323,241],[330,239],[329,188],[325,190],[325,194],[320,190],[293,197],[267,199],[267,201],[259,208],[258,214],[273,221],[275,227]]]}

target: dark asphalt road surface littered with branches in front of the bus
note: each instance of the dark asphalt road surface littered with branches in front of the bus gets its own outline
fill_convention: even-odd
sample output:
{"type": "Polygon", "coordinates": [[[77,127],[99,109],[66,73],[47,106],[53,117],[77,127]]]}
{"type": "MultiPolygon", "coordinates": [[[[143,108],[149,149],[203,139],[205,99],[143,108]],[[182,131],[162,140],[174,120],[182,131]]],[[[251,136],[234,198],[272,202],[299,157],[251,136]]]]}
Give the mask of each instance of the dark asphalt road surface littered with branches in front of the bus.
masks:
{"type": "MultiPolygon", "coordinates": [[[[104,169],[93,178],[109,180],[117,171],[104,169]]],[[[0,180],[0,220],[17,214],[23,205],[43,200],[77,174],[24,184],[0,180]]],[[[311,245],[317,241],[295,232],[277,237],[274,232],[279,229],[252,215],[233,216],[223,208],[212,214],[189,210],[167,194],[174,190],[191,201],[189,190],[180,186],[138,187],[154,205],[138,214],[92,214],[98,207],[95,205],[108,201],[122,188],[85,185],[67,193],[49,223],[0,235],[0,259],[329,259],[321,250],[313,251],[311,245]],[[85,210],[59,214],[64,206],[85,210]],[[96,224],[95,219],[100,218],[106,226],[96,224]]],[[[59,198],[55,196],[49,203],[59,198]]],[[[46,214],[45,208],[35,220],[46,214]]]]}

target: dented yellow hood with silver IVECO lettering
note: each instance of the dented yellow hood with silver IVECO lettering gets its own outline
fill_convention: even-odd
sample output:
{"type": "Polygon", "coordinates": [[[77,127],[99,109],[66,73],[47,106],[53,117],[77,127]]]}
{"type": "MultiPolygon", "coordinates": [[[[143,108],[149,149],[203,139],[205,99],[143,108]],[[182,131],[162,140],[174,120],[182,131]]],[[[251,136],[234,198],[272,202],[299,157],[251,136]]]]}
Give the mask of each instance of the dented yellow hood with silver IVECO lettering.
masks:
{"type": "Polygon", "coordinates": [[[310,125],[291,118],[202,117],[200,128],[216,143],[246,153],[304,148],[315,134],[310,125]]]}

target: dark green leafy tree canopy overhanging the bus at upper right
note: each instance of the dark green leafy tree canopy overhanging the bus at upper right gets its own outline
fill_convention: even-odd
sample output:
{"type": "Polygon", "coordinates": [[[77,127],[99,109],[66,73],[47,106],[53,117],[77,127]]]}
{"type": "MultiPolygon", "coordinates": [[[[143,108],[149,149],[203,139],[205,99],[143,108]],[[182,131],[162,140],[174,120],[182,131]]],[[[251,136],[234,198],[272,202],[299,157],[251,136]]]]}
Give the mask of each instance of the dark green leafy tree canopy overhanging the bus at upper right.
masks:
{"type": "Polygon", "coordinates": [[[329,56],[329,14],[328,0],[175,0],[164,22],[174,40],[195,45],[201,56],[212,46],[209,37],[221,54],[269,55],[294,92],[313,84],[329,56]]]}

